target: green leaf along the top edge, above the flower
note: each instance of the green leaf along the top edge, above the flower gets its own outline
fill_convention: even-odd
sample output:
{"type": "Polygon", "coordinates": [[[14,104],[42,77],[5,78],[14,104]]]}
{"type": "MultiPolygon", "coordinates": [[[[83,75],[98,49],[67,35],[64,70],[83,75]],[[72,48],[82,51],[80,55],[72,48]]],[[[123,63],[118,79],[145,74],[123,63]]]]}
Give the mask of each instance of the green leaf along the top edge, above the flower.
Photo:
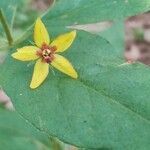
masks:
{"type": "Polygon", "coordinates": [[[148,10],[149,0],[58,0],[44,19],[51,27],[49,30],[56,33],[58,28],[64,30],[70,25],[122,20],[148,10]]]}

